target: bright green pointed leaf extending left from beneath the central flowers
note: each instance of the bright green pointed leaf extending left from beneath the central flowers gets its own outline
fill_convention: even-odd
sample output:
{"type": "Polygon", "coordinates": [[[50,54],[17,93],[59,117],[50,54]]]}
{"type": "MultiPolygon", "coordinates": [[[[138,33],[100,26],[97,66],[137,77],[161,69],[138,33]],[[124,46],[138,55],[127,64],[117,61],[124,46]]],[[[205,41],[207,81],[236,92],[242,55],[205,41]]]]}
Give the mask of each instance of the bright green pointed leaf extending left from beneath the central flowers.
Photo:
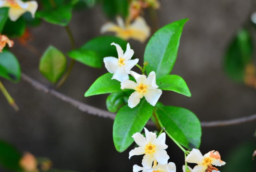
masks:
{"type": "Polygon", "coordinates": [[[126,91],[126,90],[121,90],[120,82],[118,80],[111,79],[112,76],[113,74],[111,73],[106,73],[100,76],[85,92],[84,96],[88,97],[88,96],[93,96],[97,94],[126,91]]]}

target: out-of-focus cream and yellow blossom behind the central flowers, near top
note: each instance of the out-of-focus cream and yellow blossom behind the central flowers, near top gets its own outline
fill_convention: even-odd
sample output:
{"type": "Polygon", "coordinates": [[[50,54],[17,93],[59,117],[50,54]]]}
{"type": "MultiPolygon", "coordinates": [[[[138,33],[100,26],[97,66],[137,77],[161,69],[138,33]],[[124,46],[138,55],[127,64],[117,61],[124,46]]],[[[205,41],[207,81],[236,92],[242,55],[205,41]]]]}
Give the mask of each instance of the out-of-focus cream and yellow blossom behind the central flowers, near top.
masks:
{"type": "Polygon", "coordinates": [[[100,32],[115,32],[117,37],[124,40],[135,39],[140,42],[146,41],[150,36],[150,28],[146,24],[146,21],[142,17],[137,17],[131,24],[124,24],[124,21],[120,16],[116,18],[118,25],[112,22],[108,22],[102,25],[100,32]]]}

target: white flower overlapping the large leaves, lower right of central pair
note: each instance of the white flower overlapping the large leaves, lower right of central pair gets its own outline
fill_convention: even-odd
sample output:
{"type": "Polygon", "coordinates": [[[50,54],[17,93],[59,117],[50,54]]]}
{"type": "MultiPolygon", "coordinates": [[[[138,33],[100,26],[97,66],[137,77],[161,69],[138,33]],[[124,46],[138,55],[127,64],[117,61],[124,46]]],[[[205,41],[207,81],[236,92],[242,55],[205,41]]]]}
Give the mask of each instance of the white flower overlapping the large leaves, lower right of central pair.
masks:
{"type": "Polygon", "coordinates": [[[162,94],[162,90],[157,89],[156,73],[154,71],[150,72],[148,78],[145,75],[140,75],[133,71],[130,71],[130,74],[135,78],[137,83],[131,80],[121,82],[121,89],[128,88],[135,90],[128,99],[128,106],[134,108],[143,96],[145,96],[149,104],[155,106],[162,94]]]}

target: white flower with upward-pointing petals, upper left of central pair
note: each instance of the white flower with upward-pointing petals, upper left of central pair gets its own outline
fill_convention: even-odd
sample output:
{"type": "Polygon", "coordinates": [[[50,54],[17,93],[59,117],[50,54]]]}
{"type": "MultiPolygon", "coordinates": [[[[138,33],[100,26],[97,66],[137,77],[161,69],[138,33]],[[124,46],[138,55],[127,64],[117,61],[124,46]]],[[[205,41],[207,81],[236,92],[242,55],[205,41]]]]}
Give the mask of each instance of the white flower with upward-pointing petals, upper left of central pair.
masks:
{"type": "Polygon", "coordinates": [[[111,45],[116,46],[118,59],[115,57],[104,57],[103,61],[105,63],[105,67],[108,72],[114,73],[112,79],[116,79],[120,82],[128,80],[128,74],[130,74],[131,68],[138,63],[139,59],[130,60],[134,51],[130,48],[129,43],[127,43],[125,53],[120,45],[116,43],[111,43],[111,45]]]}

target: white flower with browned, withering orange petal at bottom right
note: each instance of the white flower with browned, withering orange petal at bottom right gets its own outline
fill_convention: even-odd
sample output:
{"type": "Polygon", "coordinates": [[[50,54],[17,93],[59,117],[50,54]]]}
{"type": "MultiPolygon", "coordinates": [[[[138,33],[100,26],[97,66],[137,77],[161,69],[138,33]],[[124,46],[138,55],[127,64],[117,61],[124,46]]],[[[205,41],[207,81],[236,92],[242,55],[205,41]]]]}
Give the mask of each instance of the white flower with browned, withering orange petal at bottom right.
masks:
{"type": "Polygon", "coordinates": [[[207,170],[207,172],[212,170],[217,171],[218,169],[212,165],[222,166],[226,164],[226,162],[220,159],[218,151],[210,151],[203,156],[198,149],[193,149],[190,154],[188,154],[185,161],[198,164],[193,168],[192,172],[205,172],[205,170],[207,170]]]}

